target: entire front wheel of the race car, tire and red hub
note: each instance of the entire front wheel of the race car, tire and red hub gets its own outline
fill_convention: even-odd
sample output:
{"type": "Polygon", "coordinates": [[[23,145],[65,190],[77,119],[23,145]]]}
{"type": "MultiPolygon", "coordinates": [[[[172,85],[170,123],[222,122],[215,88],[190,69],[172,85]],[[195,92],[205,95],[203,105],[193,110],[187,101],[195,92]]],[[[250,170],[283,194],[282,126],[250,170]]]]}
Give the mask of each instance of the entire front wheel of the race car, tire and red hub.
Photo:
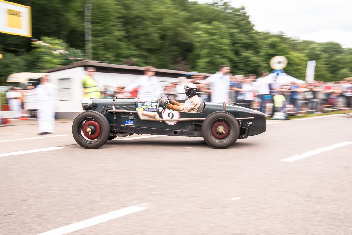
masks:
{"type": "Polygon", "coordinates": [[[73,121],[72,134],[77,144],[83,148],[99,148],[109,138],[110,125],[101,113],[86,111],[73,121]]]}

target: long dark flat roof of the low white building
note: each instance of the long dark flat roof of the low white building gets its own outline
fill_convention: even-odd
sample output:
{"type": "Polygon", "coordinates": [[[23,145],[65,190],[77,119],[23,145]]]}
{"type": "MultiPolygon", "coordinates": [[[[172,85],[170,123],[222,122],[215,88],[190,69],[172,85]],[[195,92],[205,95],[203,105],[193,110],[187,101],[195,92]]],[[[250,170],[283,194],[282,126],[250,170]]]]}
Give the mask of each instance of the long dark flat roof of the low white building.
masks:
{"type": "MultiPolygon", "coordinates": [[[[98,61],[79,61],[75,63],[71,63],[69,65],[65,65],[62,67],[48,69],[46,72],[55,72],[65,69],[77,68],[77,67],[95,67],[97,72],[110,72],[114,74],[143,74],[144,67],[138,66],[129,66],[129,65],[120,65],[120,64],[108,64],[102,63],[98,61]]],[[[187,71],[177,71],[170,69],[155,69],[157,77],[181,77],[182,75],[189,74],[187,71]]],[[[205,74],[197,72],[195,75],[205,75],[210,76],[212,74],[205,74]]]]}

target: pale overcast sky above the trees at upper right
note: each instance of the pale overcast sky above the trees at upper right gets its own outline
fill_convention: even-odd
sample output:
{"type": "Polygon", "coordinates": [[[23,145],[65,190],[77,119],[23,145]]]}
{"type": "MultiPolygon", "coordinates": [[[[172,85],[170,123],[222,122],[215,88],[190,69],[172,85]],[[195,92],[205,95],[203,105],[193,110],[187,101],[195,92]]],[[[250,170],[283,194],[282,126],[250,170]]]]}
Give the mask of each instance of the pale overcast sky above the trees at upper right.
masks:
{"type": "Polygon", "coordinates": [[[231,5],[244,6],[260,32],[352,48],[352,0],[232,0],[231,5]]]}

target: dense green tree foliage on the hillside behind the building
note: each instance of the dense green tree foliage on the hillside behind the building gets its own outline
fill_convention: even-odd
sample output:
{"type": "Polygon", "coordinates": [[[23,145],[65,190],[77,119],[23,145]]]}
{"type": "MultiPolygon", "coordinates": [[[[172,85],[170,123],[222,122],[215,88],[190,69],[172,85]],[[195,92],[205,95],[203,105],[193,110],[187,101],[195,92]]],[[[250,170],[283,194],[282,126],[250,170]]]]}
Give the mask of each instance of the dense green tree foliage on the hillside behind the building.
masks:
{"type": "MultiPolygon", "coordinates": [[[[0,84],[13,72],[43,71],[84,57],[84,0],[13,0],[31,6],[33,37],[0,34],[0,84]]],[[[352,77],[352,49],[254,30],[244,7],[224,1],[93,0],[92,56],[96,61],[214,73],[220,64],[233,74],[271,71],[273,56],[286,56],[289,75],[305,78],[315,60],[316,80],[352,77]]]]}

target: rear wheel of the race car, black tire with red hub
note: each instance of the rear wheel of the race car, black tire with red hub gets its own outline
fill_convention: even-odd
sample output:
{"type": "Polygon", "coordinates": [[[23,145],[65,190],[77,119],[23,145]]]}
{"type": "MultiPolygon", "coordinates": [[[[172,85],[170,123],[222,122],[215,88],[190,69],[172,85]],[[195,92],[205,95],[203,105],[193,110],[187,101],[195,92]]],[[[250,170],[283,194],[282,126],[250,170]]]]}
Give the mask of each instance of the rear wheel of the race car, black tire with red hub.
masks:
{"type": "Polygon", "coordinates": [[[238,139],[239,133],[238,121],[231,114],[222,111],[208,115],[202,125],[203,138],[213,148],[232,146],[238,139]],[[221,129],[224,132],[219,133],[221,129]]]}

